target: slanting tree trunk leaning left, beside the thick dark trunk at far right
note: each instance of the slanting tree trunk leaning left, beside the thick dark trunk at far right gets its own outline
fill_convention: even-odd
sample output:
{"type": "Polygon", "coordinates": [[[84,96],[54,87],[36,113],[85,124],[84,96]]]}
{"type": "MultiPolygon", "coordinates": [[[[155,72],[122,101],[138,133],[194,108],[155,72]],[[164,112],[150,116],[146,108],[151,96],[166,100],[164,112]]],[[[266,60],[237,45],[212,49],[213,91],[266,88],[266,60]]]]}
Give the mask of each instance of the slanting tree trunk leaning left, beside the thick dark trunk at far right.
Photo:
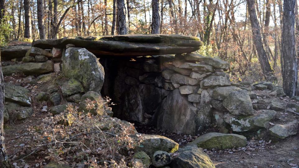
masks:
{"type": "Polygon", "coordinates": [[[252,28],[253,40],[254,40],[256,51],[259,55],[259,62],[261,64],[264,77],[268,81],[277,81],[276,77],[274,76],[274,71],[270,66],[267,52],[263,45],[263,39],[259,27],[259,21],[255,13],[254,0],[247,0],[247,2],[248,2],[249,19],[252,28]]]}

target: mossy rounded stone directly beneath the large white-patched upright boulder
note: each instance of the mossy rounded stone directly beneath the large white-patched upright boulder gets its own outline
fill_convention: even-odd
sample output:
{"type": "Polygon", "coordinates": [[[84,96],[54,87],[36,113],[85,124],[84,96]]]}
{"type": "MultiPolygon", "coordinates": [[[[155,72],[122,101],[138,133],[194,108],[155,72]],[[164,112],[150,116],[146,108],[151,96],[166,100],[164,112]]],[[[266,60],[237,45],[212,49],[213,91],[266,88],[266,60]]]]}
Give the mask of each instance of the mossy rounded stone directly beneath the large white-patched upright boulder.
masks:
{"type": "Polygon", "coordinates": [[[63,96],[69,96],[76,93],[84,92],[84,88],[77,80],[70,79],[62,85],[61,92],[63,96]]]}

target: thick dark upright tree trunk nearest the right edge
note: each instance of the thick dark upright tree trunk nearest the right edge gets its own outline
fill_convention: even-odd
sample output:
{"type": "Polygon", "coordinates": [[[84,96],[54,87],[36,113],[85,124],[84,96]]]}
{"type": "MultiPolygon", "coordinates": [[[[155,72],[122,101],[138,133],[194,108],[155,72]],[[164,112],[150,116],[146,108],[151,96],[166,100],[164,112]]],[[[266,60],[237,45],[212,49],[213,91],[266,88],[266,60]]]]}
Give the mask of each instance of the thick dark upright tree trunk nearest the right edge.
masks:
{"type": "Polygon", "coordinates": [[[296,96],[297,90],[297,54],[295,49],[295,1],[284,0],[282,36],[281,36],[281,72],[283,90],[287,96],[296,96]]]}

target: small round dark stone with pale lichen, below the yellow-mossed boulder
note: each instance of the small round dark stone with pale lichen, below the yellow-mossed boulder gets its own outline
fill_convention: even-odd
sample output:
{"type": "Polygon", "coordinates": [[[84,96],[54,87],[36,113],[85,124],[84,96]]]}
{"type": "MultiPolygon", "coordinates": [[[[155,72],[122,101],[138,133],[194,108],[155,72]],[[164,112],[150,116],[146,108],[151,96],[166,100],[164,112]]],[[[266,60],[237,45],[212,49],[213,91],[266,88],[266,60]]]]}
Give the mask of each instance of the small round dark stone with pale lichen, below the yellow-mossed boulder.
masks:
{"type": "Polygon", "coordinates": [[[152,165],[155,167],[163,167],[170,164],[172,157],[168,152],[156,151],[152,157],[152,165]]]}

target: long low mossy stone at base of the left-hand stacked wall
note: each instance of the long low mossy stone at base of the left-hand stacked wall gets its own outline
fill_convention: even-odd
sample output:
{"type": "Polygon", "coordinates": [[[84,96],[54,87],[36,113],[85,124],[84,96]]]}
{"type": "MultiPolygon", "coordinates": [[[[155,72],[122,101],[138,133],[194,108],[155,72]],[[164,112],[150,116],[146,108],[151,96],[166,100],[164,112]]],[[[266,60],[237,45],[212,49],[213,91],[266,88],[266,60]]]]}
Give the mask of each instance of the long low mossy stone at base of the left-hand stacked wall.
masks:
{"type": "Polygon", "coordinates": [[[50,60],[43,63],[23,63],[2,67],[3,75],[11,75],[16,72],[23,72],[25,75],[41,75],[54,72],[54,63],[50,60]]]}

